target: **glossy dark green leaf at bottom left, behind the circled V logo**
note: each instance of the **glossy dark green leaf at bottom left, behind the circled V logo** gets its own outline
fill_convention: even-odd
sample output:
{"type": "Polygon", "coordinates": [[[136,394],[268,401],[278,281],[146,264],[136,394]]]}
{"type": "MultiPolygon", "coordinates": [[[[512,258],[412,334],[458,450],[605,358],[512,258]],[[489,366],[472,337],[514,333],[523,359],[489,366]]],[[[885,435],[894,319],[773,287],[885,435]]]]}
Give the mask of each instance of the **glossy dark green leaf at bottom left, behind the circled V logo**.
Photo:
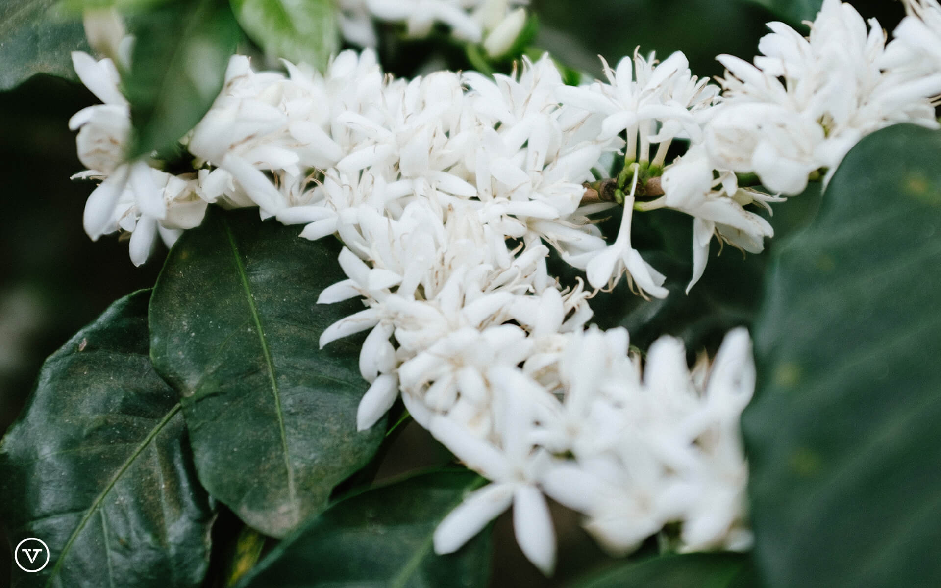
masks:
{"type": "Polygon", "coordinates": [[[51,550],[14,584],[183,587],[206,572],[215,509],[148,357],[149,298],[122,298],[47,359],[0,444],[9,537],[51,550]]]}

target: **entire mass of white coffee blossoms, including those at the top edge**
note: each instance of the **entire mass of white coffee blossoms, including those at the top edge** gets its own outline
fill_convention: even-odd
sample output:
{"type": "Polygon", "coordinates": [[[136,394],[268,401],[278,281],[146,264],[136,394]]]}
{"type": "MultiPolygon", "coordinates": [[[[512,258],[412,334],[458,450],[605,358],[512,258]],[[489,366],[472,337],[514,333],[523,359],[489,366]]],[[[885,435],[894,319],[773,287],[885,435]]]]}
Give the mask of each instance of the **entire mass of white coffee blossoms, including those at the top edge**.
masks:
{"type": "MultiPolygon", "coordinates": [[[[342,4],[348,18],[405,20],[414,33],[438,20],[480,39],[496,22],[473,21],[484,23],[473,32],[463,19],[483,12],[445,0],[342,4]]],[[[508,9],[481,7],[491,4],[508,9]]],[[[722,88],[694,77],[681,53],[605,64],[605,79],[582,87],[566,87],[548,57],[508,76],[405,80],[385,76],[369,50],[336,56],[323,74],[290,63],[287,73],[254,72],[235,56],[212,110],[181,140],[195,165],[176,175],[124,160],[131,124],[117,69],[75,54],[104,102],[72,119],[82,175],[101,180],[85,227],[92,238],[130,232],[135,263],[157,235],[172,243],[199,225],[210,203],[258,207],[302,225],[302,238],[339,237],[347,278],[320,302],[359,298],[364,308],[320,342],[369,331],[359,428],[401,397],[492,482],[441,523],[439,552],[512,504],[520,547],[549,573],[545,495],[581,512],[615,553],[667,523],[679,523],[684,549],[747,548],[738,428],[754,388],[747,333],[729,333],[692,370],[682,344],[662,338],[642,365],[623,329],[586,328],[588,301],[622,278],[638,294],[668,294],[631,246],[644,211],[694,217],[692,287],[713,236],[759,251],[772,235],[744,207],[781,198],[739,185],[737,172],[796,194],[863,135],[901,120],[936,126],[928,97],[941,90],[939,70],[922,62],[937,57],[937,5],[912,6],[903,25],[920,35],[887,48],[878,24],[867,33],[837,0],[808,39],[771,24],[754,66],[720,57],[722,88]],[[678,141],[688,150],[668,162],[678,141]],[[616,201],[586,201],[585,185],[613,168],[616,201]],[[613,207],[621,225],[609,242],[591,215],[613,207]],[[550,276],[551,249],[587,283],[550,276]]]]}

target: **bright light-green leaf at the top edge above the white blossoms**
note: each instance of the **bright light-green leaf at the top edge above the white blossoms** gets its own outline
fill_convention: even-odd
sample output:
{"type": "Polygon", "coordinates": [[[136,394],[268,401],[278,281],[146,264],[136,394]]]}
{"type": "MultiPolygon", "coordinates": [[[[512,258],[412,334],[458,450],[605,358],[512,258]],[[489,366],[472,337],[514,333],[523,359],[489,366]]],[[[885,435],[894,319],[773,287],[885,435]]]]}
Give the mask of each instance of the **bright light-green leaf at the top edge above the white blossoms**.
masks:
{"type": "Polygon", "coordinates": [[[332,0],[231,0],[231,7],[251,40],[268,56],[323,69],[340,48],[332,0]]]}

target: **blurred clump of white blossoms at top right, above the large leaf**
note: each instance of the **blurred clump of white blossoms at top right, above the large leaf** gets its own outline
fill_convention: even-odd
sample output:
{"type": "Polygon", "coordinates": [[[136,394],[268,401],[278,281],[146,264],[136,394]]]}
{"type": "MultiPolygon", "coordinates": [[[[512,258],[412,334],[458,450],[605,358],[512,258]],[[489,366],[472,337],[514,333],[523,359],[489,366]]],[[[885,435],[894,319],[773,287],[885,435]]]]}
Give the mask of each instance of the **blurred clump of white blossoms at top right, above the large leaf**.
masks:
{"type": "MultiPolygon", "coordinates": [[[[909,19],[901,30],[927,40],[929,27],[909,19]]],[[[937,126],[928,99],[941,92],[941,75],[910,65],[927,63],[932,50],[916,52],[918,59],[905,49],[909,41],[894,40],[887,51],[879,23],[870,20],[867,30],[838,0],[823,2],[806,39],[786,24],[769,26],[754,66],[719,56],[727,70],[722,103],[705,128],[714,167],[755,172],[768,188],[798,194],[818,168],[828,168],[829,179],[869,133],[897,122],[937,126]]]]}

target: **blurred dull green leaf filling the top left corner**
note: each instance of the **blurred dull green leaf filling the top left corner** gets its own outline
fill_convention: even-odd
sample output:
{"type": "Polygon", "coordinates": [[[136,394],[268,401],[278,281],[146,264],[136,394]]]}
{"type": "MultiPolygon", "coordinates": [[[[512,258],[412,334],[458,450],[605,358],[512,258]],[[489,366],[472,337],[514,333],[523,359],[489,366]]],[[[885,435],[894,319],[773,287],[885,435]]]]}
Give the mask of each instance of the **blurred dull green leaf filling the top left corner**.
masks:
{"type": "Polygon", "coordinates": [[[0,90],[34,73],[70,79],[72,51],[89,51],[80,20],[62,20],[50,8],[56,0],[0,2],[0,90]]]}

